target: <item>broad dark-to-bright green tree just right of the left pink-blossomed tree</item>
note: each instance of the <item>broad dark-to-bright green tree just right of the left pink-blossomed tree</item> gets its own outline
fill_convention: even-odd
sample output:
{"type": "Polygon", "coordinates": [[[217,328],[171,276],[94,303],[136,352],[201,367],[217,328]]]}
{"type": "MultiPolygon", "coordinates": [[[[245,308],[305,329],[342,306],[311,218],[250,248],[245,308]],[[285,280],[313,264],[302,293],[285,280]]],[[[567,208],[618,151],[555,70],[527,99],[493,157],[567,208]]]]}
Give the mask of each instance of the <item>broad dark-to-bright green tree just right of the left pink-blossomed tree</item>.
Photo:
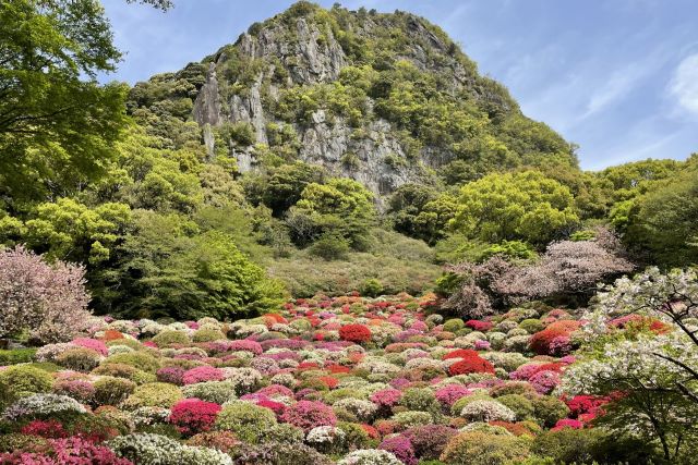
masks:
{"type": "Polygon", "coordinates": [[[266,278],[220,231],[201,232],[186,218],[135,210],[132,231],[111,269],[95,274],[101,313],[230,320],[275,309],[282,286],[266,278]]]}

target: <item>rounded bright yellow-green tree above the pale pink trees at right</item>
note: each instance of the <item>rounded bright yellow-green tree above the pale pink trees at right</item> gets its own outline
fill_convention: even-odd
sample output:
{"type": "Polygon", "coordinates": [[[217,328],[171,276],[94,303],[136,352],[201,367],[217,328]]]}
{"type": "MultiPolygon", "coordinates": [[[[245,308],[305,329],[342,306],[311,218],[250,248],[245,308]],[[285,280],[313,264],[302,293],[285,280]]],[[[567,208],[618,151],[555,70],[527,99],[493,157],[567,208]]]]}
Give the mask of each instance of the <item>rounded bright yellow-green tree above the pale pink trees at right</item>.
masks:
{"type": "Polygon", "coordinates": [[[450,228],[469,238],[543,245],[578,222],[569,188],[538,171],[490,174],[460,189],[450,228]]]}

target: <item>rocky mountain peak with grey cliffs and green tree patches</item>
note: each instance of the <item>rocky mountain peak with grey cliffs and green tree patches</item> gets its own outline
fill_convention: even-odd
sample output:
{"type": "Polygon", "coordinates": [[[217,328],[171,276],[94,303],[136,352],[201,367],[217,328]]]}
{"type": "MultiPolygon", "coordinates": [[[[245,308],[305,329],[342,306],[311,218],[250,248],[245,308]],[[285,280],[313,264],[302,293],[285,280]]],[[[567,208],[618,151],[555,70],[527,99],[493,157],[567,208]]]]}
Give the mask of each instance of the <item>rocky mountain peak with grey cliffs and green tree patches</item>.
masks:
{"type": "Polygon", "coordinates": [[[137,84],[130,111],[146,126],[169,121],[157,132],[174,147],[195,122],[207,157],[230,157],[240,173],[301,160],[378,199],[406,183],[577,163],[441,28],[400,11],[296,3],[202,62],[137,84]]]}

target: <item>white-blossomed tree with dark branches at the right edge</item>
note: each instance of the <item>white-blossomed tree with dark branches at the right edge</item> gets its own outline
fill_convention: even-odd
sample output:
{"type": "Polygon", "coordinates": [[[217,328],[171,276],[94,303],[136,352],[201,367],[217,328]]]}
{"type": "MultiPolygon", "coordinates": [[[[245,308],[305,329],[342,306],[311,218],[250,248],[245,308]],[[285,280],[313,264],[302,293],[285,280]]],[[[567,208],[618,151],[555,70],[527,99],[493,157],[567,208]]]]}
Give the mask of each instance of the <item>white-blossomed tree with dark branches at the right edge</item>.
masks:
{"type": "Polygon", "coordinates": [[[611,396],[600,423],[657,440],[675,461],[698,429],[698,282],[695,270],[655,268],[606,286],[583,328],[583,352],[559,389],[611,396]],[[623,331],[615,317],[638,315],[667,323],[661,331],[623,331]],[[666,331],[665,329],[669,328],[666,331]]]}

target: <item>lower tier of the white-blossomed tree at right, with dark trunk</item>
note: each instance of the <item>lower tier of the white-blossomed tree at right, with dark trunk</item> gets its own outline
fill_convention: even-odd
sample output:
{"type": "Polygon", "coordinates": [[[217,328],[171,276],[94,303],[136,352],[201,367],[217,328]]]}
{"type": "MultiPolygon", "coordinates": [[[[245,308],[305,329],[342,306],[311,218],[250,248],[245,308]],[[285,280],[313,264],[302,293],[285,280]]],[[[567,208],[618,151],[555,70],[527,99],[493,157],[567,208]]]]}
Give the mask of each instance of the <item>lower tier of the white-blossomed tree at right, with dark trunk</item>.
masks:
{"type": "Polygon", "coordinates": [[[610,396],[597,423],[616,431],[657,440],[664,458],[673,461],[698,433],[698,405],[678,388],[693,383],[676,364],[657,356],[670,354],[698,363],[697,351],[678,332],[635,340],[605,339],[570,366],[559,389],[568,395],[610,396]]]}

